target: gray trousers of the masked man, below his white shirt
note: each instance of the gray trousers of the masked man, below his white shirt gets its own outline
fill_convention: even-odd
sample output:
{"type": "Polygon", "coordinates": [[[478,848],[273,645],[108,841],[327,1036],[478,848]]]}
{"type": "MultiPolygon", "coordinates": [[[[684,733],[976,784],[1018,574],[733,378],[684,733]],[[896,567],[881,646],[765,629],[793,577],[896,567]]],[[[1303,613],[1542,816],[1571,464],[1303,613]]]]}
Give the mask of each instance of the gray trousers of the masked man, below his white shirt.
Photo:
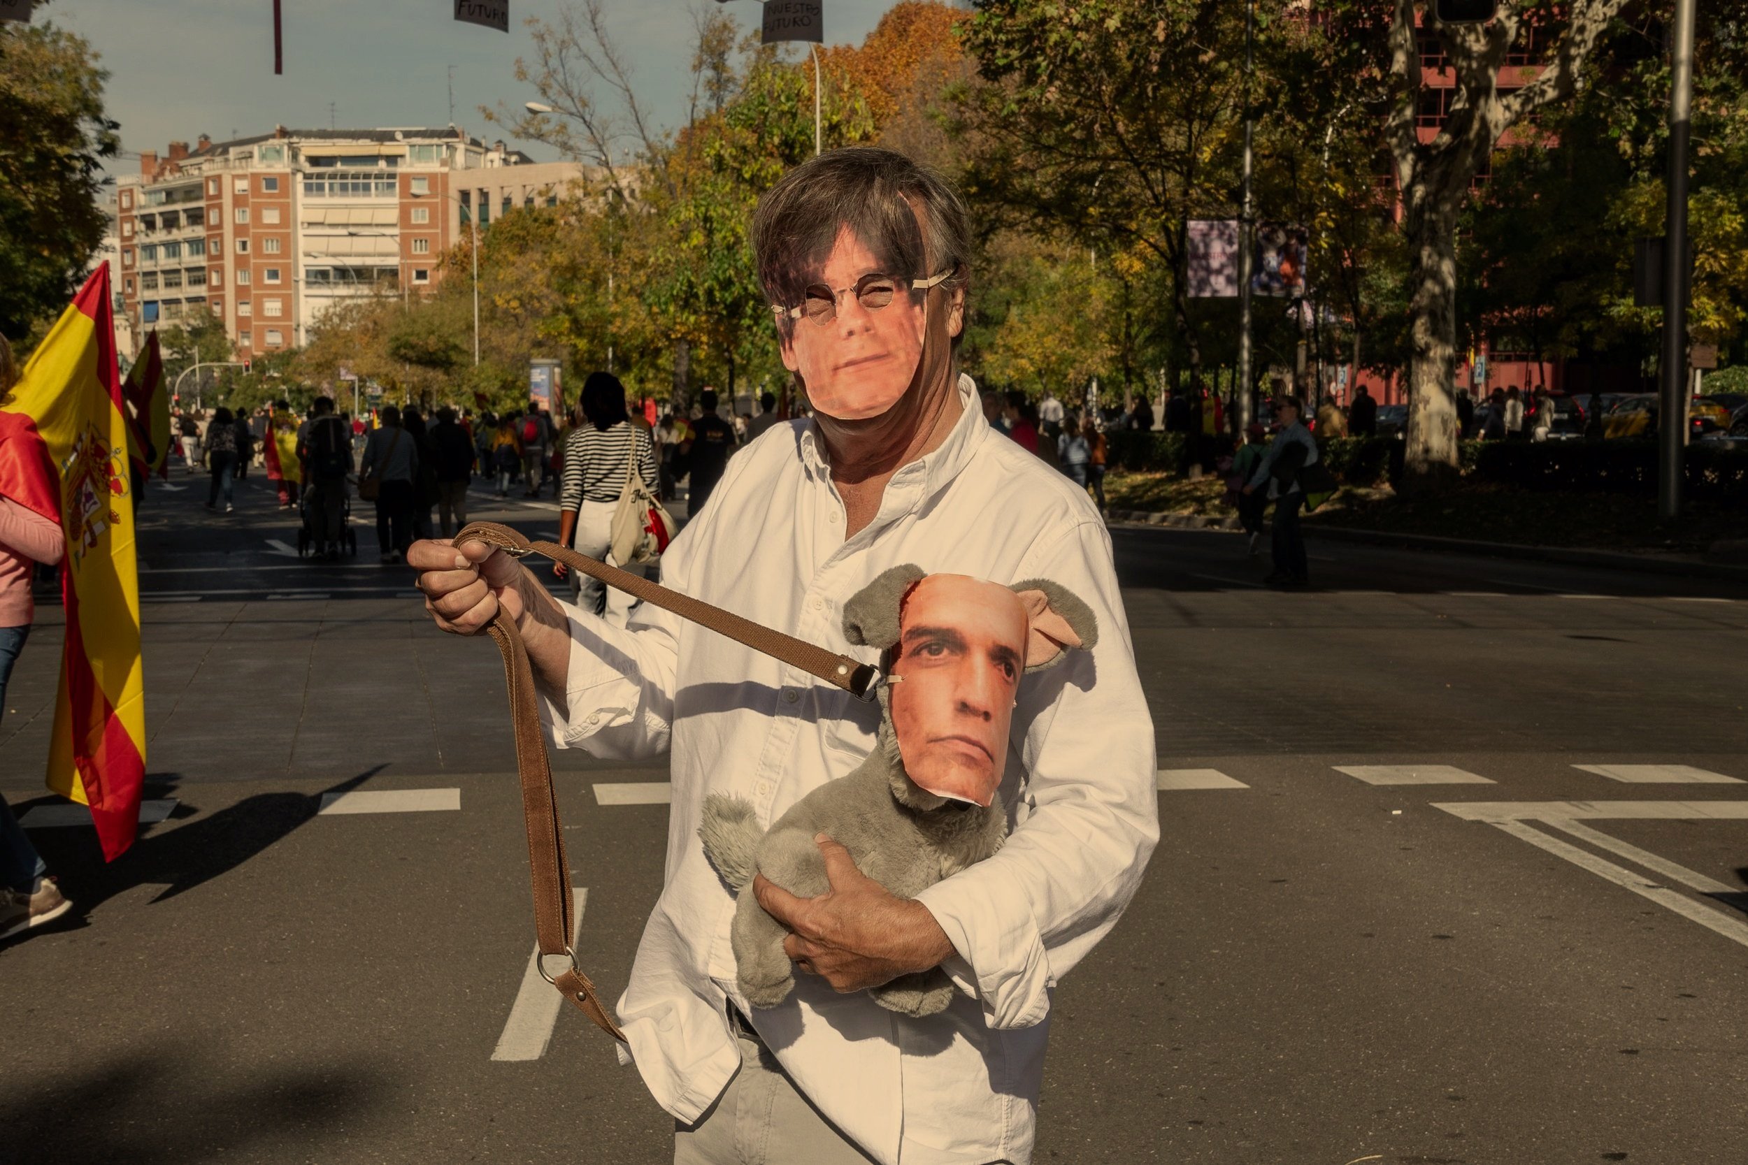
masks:
{"type": "Polygon", "coordinates": [[[739,1036],[741,1071],[696,1125],[673,1127],[673,1165],[869,1165],[767,1048],[739,1036]]]}

